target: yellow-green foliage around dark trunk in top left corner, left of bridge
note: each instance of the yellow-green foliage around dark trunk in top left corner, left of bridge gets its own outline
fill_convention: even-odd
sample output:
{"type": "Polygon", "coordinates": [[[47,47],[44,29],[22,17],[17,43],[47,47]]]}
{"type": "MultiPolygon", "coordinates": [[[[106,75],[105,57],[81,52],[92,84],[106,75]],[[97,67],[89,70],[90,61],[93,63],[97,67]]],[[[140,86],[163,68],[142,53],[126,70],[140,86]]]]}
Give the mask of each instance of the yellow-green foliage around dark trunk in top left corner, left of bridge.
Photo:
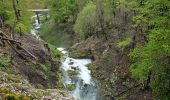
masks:
{"type": "Polygon", "coordinates": [[[17,5],[17,9],[20,10],[20,18],[17,21],[12,0],[1,0],[0,1],[0,17],[5,22],[6,26],[13,28],[15,26],[16,32],[29,32],[31,29],[31,13],[28,11],[28,0],[20,0],[17,5]]]}

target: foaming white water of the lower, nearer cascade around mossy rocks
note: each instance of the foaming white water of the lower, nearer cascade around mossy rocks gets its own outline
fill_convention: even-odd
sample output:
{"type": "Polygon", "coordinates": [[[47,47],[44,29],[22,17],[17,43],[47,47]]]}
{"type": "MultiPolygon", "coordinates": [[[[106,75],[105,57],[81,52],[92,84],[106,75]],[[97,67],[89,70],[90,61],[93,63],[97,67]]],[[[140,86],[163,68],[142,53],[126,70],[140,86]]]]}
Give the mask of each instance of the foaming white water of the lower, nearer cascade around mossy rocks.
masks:
{"type": "MultiPolygon", "coordinates": [[[[73,59],[68,57],[68,52],[64,48],[58,48],[65,54],[63,58],[61,70],[63,73],[63,81],[65,87],[67,84],[74,84],[75,89],[69,90],[76,100],[99,100],[98,86],[91,77],[91,71],[87,68],[87,64],[91,63],[90,59],[73,59]],[[70,65],[70,63],[72,63],[70,65]],[[69,70],[74,70],[78,74],[74,77],[68,75],[69,70]]],[[[67,87],[66,87],[67,89],[67,87]]]]}

